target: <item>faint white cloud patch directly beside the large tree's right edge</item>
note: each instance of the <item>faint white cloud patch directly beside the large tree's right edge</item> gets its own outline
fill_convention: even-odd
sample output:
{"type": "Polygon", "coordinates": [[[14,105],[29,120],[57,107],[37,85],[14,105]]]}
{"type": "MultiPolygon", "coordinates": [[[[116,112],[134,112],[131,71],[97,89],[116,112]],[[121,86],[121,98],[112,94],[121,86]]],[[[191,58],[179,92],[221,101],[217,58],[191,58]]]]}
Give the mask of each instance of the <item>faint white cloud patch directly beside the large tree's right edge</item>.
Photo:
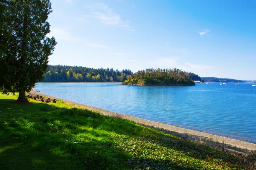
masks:
{"type": "Polygon", "coordinates": [[[56,40],[80,40],[77,37],[73,37],[63,28],[51,28],[51,32],[47,34],[47,37],[55,37],[56,40]]]}

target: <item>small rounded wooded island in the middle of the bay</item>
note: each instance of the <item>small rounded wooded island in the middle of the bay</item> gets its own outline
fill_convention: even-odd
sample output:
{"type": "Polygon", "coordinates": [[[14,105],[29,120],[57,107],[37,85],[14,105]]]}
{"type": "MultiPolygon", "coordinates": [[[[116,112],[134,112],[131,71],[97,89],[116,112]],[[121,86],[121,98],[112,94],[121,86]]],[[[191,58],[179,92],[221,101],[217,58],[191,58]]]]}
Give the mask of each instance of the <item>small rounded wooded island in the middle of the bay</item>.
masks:
{"type": "Polygon", "coordinates": [[[122,85],[195,85],[190,75],[199,77],[177,68],[149,68],[134,73],[132,78],[122,82],[122,85]]]}

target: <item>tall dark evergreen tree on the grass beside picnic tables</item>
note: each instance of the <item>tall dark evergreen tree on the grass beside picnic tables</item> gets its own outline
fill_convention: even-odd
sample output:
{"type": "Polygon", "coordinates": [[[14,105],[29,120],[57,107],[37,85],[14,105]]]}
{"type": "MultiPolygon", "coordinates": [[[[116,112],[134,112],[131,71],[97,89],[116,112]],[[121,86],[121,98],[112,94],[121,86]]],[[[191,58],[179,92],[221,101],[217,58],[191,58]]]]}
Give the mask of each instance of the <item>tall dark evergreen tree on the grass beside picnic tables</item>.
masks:
{"type": "Polygon", "coordinates": [[[19,92],[17,101],[27,102],[25,92],[44,78],[56,45],[54,37],[46,37],[51,3],[1,0],[0,12],[0,88],[3,94],[19,92]]]}

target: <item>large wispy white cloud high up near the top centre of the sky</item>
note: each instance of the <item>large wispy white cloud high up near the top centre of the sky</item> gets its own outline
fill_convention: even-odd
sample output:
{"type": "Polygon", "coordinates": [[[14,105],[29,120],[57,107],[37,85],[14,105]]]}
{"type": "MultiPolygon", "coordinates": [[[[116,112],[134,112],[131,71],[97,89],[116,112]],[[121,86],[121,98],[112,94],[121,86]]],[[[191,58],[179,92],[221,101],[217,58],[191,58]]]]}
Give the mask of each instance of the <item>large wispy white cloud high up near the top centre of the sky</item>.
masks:
{"type": "Polygon", "coordinates": [[[130,27],[129,21],[123,21],[119,14],[109,8],[105,3],[96,3],[87,8],[91,9],[90,15],[84,15],[85,18],[95,18],[109,26],[130,27]]]}

